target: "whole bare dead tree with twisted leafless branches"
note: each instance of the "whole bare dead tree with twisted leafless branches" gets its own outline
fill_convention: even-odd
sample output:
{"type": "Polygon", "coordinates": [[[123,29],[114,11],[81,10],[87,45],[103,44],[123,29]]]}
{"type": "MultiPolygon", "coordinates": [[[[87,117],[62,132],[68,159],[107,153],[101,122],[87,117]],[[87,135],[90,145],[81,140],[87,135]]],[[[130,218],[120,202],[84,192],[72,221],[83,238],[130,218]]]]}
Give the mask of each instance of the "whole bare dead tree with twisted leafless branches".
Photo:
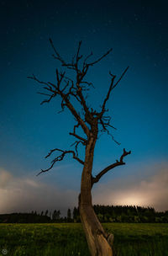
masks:
{"type": "MultiPolygon", "coordinates": [[[[45,92],[39,92],[46,96],[46,99],[41,102],[41,104],[50,103],[51,99],[54,99],[56,96],[60,96],[61,99],[61,110],[63,111],[65,108],[69,109],[71,115],[75,117],[76,125],[73,127],[73,131],[69,134],[75,138],[75,142],[73,143],[75,149],[74,150],[62,150],[60,148],[51,149],[48,153],[47,157],[50,157],[53,153],[59,153],[54,159],[51,161],[50,167],[46,169],[41,169],[38,173],[45,173],[49,171],[55,163],[62,161],[67,154],[71,154],[71,156],[82,165],[82,173],[81,173],[81,194],[79,195],[79,209],[81,216],[81,223],[84,228],[84,231],[87,236],[87,243],[89,250],[92,256],[112,256],[113,255],[113,234],[108,234],[103,229],[100,221],[98,221],[97,216],[92,208],[92,187],[96,184],[105,173],[112,170],[113,168],[125,164],[123,162],[123,158],[129,155],[131,152],[127,152],[123,149],[123,154],[116,160],[115,163],[108,165],[108,167],[102,169],[100,173],[97,173],[95,177],[92,176],[92,163],[94,156],[95,144],[97,142],[98,135],[102,132],[107,132],[114,140],[113,135],[109,131],[110,129],[115,129],[113,125],[110,123],[110,116],[107,115],[107,103],[110,98],[110,94],[113,89],[118,85],[120,80],[123,78],[125,72],[127,72],[127,67],[122,75],[116,79],[116,76],[109,72],[111,77],[111,83],[108,88],[108,92],[106,94],[105,99],[102,101],[102,105],[100,106],[100,110],[97,111],[90,107],[87,103],[87,95],[86,91],[92,87],[92,83],[86,81],[86,75],[88,70],[99,61],[101,61],[104,57],[108,56],[108,54],[112,51],[110,49],[104,55],[97,58],[95,61],[89,61],[92,56],[92,52],[88,56],[82,56],[80,54],[81,51],[81,41],[79,42],[76,55],[72,58],[71,62],[66,62],[62,56],[56,51],[55,45],[53,41],[50,40],[50,45],[54,51],[53,57],[55,60],[60,61],[62,67],[65,68],[64,72],[59,72],[56,69],[56,83],[43,82],[40,81],[34,75],[29,77],[41,84],[45,92]],[[71,79],[71,77],[67,76],[67,71],[75,72],[75,78],[71,79]],[[78,107],[76,108],[76,104],[78,107]],[[81,110],[79,111],[79,106],[81,110]],[[79,132],[77,133],[77,129],[81,128],[82,135],[79,132]],[[85,157],[81,159],[78,155],[78,146],[82,145],[85,147],[85,157]]],[[[74,74],[73,74],[74,77],[74,74]]],[[[79,130],[78,130],[79,131],[79,130]]],[[[118,141],[115,141],[118,143],[118,141]]]]}

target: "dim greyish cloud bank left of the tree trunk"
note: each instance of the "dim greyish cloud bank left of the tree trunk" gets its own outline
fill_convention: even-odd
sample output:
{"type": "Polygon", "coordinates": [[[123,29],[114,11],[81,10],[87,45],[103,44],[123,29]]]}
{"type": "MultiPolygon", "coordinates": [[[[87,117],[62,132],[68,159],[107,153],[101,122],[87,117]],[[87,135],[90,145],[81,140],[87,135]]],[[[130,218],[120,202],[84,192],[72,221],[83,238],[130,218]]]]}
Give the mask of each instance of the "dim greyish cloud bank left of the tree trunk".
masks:
{"type": "Polygon", "coordinates": [[[0,213],[57,209],[65,215],[68,207],[77,204],[77,191],[58,189],[35,179],[14,177],[0,169],[0,213]]]}

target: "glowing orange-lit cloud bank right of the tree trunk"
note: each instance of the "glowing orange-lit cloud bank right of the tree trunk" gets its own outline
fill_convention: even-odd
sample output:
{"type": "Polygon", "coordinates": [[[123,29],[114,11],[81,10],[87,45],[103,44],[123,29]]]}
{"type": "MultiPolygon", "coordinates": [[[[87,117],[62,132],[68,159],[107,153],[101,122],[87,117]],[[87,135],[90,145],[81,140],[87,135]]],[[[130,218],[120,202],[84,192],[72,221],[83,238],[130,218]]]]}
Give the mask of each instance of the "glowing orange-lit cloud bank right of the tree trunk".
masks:
{"type": "MultiPolygon", "coordinates": [[[[116,179],[99,184],[93,193],[94,203],[105,205],[142,205],[168,210],[168,168],[162,164],[154,168],[153,176],[146,179],[116,179]]],[[[150,168],[152,168],[150,166],[150,168]]]]}

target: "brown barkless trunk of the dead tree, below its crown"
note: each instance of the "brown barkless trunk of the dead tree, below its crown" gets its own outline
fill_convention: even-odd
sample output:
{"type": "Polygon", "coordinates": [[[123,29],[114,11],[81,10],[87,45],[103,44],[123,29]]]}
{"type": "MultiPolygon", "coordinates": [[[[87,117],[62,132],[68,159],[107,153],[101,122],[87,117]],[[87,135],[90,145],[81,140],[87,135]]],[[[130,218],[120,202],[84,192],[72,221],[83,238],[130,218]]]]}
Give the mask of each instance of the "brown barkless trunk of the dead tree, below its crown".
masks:
{"type": "Polygon", "coordinates": [[[104,231],[92,208],[92,161],[96,140],[87,143],[85,164],[81,175],[81,195],[79,210],[87,243],[92,256],[113,256],[113,234],[104,231]]]}

